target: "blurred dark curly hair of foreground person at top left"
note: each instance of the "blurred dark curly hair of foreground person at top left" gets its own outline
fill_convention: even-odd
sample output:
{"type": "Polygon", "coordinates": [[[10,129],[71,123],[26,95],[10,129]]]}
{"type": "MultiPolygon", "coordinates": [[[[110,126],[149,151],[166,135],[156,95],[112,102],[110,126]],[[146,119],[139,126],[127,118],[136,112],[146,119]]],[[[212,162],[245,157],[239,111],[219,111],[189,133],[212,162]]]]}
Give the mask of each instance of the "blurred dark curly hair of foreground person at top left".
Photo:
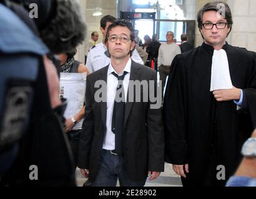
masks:
{"type": "Polygon", "coordinates": [[[86,24],[79,4],[71,0],[56,0],[56,13],[41,30],[41,38],[52,53],[69,53],[86,37],[86,24]]]}

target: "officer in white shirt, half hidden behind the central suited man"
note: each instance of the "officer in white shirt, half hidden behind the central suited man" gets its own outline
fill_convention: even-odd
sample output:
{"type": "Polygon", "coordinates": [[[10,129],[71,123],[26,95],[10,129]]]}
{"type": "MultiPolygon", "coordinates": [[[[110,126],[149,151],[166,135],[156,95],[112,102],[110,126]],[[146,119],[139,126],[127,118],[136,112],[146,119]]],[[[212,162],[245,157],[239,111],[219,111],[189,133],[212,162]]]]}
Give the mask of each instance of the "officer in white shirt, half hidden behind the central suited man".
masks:
{"type": "MultiPolygon", "coordinates": [[[[116,21],[116,18],[110,15],[104,16],[101,19],[100,29],[102,32],[103,40],[100,44],[94,45],[94,47],[91,48],[91,50],[87,55],[87,60],[86,60],[86,67],[91,73],[96,72],[96,70],[99,70],[109,65],[110,55],[109,55],[109,52],[107,51],[106,45],[104,44],[104,40],[107,34],[107,28],[114,21],[116,21]]],[[[142,65],[144,64],[144,62],[139,56],[139,53],[135,49],[132,52],[131,58],[132,60],[134,60],[134,62],[140,63],[142,65]]]]}

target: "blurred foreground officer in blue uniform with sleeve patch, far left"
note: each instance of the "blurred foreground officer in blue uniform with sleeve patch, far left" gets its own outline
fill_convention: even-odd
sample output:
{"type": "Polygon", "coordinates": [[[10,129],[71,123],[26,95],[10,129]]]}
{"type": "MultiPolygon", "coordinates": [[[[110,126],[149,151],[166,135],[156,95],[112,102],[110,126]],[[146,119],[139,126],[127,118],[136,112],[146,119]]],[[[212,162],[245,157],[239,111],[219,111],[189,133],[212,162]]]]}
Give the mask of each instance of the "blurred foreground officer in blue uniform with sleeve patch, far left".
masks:
{"type": "Polygon", "coordinates": [[[0,176],[19,152],[19,140],[29,123],[38,57],[47,52],[24,22],[0,3],[0,176]]]}

